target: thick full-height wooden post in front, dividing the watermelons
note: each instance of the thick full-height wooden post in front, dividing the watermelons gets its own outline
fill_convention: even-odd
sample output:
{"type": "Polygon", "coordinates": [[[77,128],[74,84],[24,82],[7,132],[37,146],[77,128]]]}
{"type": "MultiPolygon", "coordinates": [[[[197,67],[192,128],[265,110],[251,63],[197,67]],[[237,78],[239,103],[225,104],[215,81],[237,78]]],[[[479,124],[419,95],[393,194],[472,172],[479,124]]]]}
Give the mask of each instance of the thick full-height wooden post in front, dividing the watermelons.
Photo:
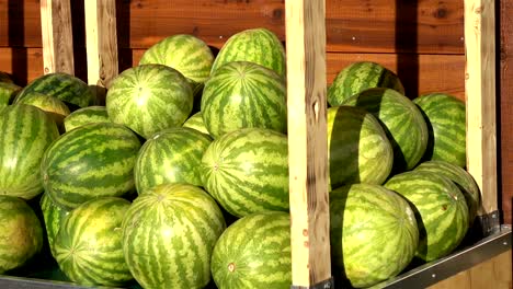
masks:
{"type": "Polygon", "coordinates": [[[293,287],[331,288],[324,0],[287,0],[293,287]]]}

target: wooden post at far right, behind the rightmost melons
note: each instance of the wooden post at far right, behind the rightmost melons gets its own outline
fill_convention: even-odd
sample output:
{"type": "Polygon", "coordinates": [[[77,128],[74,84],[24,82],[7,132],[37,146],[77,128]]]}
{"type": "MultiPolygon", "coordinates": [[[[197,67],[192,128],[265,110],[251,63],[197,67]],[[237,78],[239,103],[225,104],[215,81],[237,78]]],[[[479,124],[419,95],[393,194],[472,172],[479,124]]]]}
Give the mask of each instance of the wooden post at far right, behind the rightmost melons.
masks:
{"type": "Polygon", "coordinates": [[[500,224],[497,213],[494,9],[494,0],[465,0],[467,169],[481,190],[479,216],[486,234],[500,224]]]}

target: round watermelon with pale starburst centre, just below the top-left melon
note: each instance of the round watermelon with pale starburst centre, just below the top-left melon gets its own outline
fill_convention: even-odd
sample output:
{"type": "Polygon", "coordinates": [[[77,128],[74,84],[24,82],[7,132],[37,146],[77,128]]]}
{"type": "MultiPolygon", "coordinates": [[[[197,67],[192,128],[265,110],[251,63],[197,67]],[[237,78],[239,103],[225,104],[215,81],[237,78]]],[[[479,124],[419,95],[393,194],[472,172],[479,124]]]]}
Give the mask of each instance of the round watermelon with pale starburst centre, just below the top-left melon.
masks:
{"type": "Polygon", "coordinates": [[[192,112],[193,94],[175,69],[142,65],[112,81],[105,106],[113,123],[149,138],[159,130],[181,126],[192,112]]]}

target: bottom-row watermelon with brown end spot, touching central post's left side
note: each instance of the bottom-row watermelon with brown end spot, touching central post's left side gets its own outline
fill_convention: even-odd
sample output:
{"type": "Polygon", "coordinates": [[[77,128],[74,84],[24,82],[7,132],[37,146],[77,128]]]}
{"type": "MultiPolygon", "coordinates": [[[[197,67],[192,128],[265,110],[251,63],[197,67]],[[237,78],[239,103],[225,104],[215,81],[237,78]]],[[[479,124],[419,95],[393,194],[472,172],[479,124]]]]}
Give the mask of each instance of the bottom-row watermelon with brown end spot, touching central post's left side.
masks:
{"type": "Polygon", "coordinates": [[[290,216],[266,211],[237,220],[217,241],[210,268],[218,288],[288,288],[290,216]]]}

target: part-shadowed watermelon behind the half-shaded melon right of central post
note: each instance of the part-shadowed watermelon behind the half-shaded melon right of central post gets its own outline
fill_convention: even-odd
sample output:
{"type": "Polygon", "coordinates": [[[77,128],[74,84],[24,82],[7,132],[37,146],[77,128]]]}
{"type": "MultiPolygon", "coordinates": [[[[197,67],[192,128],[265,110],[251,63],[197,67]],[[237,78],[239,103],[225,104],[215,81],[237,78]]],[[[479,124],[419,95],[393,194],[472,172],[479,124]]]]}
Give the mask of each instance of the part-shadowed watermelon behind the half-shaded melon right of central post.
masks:
{"type": "Polygon", "coordinates": [[[410,171],[424,155],[428,125],[417,105],[392,89],[364,90],[344,102],[372,113],[381,124],[394,148],[395,172],[410,171]]]}

